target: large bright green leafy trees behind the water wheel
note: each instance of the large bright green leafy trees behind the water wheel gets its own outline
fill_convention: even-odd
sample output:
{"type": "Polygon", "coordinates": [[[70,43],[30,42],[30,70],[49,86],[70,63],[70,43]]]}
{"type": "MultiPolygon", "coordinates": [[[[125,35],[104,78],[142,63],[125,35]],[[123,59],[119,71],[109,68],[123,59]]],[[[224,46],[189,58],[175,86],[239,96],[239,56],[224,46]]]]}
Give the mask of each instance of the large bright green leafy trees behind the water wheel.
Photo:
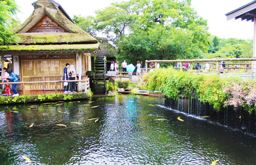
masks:
{"type": "Polygon", "coordinates": [[[209,46],[208,27],[190,5],[190,0],[129,0],[75,21],[87,32],[105,33],[118,47],[119,61],[199,58],[209,46]]]}

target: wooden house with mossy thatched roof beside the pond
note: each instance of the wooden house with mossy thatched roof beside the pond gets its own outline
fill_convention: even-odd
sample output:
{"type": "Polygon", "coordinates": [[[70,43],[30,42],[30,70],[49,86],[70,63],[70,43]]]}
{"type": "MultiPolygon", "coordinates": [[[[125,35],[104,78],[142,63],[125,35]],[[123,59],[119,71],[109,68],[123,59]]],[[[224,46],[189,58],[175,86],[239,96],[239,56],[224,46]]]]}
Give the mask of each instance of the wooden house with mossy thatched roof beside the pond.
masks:
{"type": "MultiPolygon", "coordinates": [[[[75,66],[81,79],[92,70],[91,57],[99,49],[98,40],[76,26],[55,1],[37,0],[32,5],[31,16],[14,30],[18,45],[0,46],[2,61],[5,55],[12,55],[13,71],[24,82],[62,80],[66,63],[75,66]]],[[[26,90],[52,88],[43,83],[25,86],[26,90]]]]}

